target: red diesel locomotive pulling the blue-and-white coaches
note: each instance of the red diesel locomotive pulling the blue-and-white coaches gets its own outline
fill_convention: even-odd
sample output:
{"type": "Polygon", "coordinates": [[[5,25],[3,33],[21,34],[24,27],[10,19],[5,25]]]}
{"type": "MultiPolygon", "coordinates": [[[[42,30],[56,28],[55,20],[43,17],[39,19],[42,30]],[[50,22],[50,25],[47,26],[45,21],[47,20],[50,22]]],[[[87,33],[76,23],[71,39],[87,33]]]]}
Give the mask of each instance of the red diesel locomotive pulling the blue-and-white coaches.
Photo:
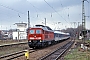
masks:
{"type": "Polygon", "coordinates": [[[36,25],[28,29],[28,45],[31,48],[50,45],[54,41],[54,32],[51,28],[36,25]]]}

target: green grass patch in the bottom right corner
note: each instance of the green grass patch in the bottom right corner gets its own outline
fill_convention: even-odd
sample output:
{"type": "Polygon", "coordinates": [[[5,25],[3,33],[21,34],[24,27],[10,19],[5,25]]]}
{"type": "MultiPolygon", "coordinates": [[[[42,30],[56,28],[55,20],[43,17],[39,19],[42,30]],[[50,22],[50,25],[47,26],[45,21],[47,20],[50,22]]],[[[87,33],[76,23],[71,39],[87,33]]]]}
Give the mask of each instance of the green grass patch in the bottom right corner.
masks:
{"type": "Polygon", "coordinates": [[[65,57],[65,60],[90,60],[90,51],[79,51],[79,48],[72,49],[65,57]]]}

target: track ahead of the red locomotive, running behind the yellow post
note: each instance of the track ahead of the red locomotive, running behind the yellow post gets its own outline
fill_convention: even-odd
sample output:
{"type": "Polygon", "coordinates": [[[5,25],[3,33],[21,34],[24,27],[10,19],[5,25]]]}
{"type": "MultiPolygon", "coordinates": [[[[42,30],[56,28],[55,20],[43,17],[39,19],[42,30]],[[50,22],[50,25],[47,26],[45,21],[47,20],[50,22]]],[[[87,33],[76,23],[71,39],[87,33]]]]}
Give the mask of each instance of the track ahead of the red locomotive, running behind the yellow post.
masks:
{"type": "MultiPolygon", "coordinates": [[[[33,49],[27,49],[27,50],[29,50],[29,53],[32,53],[32,52],[36,51],[36,50],[33,50],[33,49]]],[[[26,52],[26,50],[22,50],[22,51],[7,54],[7,55],[4,55],[4,56],[0,56],[0,60],[12,60],[12,59],[24,56],[25,52],[26,52]]]]}

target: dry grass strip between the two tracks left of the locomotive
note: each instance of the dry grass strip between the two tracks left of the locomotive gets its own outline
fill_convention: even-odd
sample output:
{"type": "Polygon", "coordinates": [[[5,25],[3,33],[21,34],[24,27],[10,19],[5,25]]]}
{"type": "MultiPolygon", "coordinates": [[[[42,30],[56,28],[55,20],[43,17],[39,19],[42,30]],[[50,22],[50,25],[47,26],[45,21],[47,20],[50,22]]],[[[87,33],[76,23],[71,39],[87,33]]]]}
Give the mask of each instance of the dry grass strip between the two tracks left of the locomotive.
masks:
{"type": "Polygon", "coordinates": [[[28,48],[28,45],[19,45],[19,46],[12,46],[12,47],[5,47],[5,48],[0,48],[0,56],[10,54],[13,52],[21,51],[28,48]]]}

